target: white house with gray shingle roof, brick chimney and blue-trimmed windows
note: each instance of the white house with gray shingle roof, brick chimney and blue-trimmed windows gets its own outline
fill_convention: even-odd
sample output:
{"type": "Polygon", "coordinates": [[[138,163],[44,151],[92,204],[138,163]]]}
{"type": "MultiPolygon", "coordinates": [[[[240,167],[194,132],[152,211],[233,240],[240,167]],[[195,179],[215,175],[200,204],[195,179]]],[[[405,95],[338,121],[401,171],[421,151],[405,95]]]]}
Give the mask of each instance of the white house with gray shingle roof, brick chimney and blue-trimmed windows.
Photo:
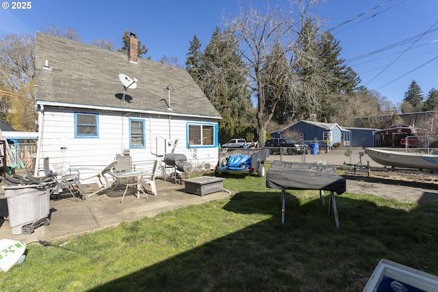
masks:
{"type": "MultiPolygon", "coordinates": [[[[117,156],[149,170],[164,155],[193,168],[218,162],[220,114],[183,68],[36,32],[36,173],[44,157],[70,162],[81,178],[117,156]]],[[[169,165],[168,165],[169,167],[169,165]]],[[[172,170],[170,170],[172,171],[172,170]]]]}

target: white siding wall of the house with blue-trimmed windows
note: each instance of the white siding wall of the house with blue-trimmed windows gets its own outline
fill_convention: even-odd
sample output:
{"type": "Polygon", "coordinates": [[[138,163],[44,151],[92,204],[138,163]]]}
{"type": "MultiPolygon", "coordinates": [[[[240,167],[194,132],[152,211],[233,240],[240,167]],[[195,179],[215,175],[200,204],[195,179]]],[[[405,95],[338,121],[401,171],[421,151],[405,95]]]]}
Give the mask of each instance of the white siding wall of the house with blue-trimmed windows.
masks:
{"type": "MultiPolygon", "coordinates": [[[[88,114],[99,114],[99,137],[75,137],[75,114],[67,109],[44,109],[43,127],[40,137],[39,169],[42,170],[44,157],[53,163],[69,161],[73,168],[79,169],[81,178],[94,174],[105,165],[114,161],[116,155],[123,155],[129,149],[133,165],[136,169],[149,170],[155,159],[159,162],[164,157],[157,157],[157,137],[165,153],[183,154],[194,168],[205,168],[206,164],[214,168],[218,162],[218,147],[187,147],[187,122],[205,122],[217,124],[216,120],[186,119],[175,116],[149,116],[134,113],[117,113],[106,111],[77,111],[88,114]],[[145,148],[129,148],[129,119],[143,119],[145,125],[145,148]],[[177,140],[176,146],[175,142],[177,140]]],[[[41,115],[40,115],[41,116],[41,115]]],[[[217,142],[216,142],[217,144],[217,142]]],[[[164,165],[164,162],[161,162],[164,165]]],[[[161,173],[158,167],[157,174],[161,173]]],[[[172,170],[168,169],[168,172],[172,170]]]]}

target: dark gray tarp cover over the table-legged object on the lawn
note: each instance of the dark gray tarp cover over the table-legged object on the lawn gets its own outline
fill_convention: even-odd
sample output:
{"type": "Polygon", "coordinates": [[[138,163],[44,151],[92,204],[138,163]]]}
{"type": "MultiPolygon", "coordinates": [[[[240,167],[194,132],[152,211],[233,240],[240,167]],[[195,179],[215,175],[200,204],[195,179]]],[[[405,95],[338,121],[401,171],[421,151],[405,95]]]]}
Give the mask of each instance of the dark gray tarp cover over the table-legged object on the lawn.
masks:
{"type": "Polygon", "coordinates": [[[346,180],[331,165],[274,161],[266,174],[270,189],[320,189],[346,191],[346,180]]]}

